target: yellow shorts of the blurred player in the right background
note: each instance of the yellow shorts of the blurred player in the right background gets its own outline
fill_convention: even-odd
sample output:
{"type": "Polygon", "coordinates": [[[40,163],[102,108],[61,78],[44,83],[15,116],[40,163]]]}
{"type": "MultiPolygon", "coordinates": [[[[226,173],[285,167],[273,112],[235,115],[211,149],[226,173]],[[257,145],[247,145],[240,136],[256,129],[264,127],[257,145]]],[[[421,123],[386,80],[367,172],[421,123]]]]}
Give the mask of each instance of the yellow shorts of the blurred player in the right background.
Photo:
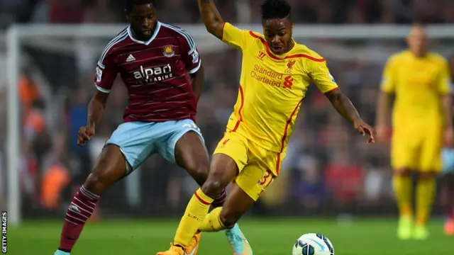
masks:
{"type": "Polygon", "coordinates": [[[392,168],[441,171],[442,133],[441,128],[436,127],[394,132],[391,142],[392,168]]]}

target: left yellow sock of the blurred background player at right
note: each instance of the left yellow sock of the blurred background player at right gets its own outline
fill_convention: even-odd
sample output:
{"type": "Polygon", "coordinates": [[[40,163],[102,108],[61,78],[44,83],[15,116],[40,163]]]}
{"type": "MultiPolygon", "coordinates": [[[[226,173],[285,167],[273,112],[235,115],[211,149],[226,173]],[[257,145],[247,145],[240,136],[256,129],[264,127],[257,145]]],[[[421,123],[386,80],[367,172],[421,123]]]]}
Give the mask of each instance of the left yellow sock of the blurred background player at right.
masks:
{"type": "Polygon", "coordinates": [[[411,210],[411,176],[394,175],[392,178],[394,196],[396,196],[397,207],[401,217],[412,217],[411,210]]]}

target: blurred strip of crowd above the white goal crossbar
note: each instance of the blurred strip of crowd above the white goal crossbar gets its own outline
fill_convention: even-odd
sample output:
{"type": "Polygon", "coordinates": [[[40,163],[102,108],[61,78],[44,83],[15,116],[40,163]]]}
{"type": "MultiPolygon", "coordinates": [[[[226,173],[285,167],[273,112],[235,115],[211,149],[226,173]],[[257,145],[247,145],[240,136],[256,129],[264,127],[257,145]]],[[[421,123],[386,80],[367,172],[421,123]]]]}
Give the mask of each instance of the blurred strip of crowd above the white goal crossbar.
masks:
{"type": "MultiPolygon", "coordinates": [[[[446,23],[454,21],[450,0],[288,0],[293,6],[295,23],[446,23]]],[[[248,1],[254,22],[260,21],[262,0],[248,1]]],[[[38,23],[115,23],[123,20],[123,0],[3,0],[0,23],[33,21],[38,23]]],[[[234,21],[236,1],[219,0],[226,20],[234,21]]],[[[172,23],[199,21],[196,2],[157,1],[160,19],[172,23]],[[178,15],[175,15],[178,13],[178,15]]],[[[243,7],[241,7],[243,8],[243,7]]],[[[243,10],[244,11],[244,10],[243,10]]]]}

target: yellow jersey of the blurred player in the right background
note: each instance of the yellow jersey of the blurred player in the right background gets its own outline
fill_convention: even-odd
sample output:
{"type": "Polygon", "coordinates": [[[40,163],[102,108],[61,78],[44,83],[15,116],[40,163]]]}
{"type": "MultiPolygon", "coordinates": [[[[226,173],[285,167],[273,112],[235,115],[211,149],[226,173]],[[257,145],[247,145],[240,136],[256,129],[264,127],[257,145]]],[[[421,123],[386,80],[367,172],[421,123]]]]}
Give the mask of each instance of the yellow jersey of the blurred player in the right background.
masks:
{"type": "Polygon", "coordinates": [[[399,52],[384,67],[381,90],[396,95],[394,125],[441,125],[442,96],[451,93],[448,62],[435,53],[415,57],[408,50],[399,52]]]}

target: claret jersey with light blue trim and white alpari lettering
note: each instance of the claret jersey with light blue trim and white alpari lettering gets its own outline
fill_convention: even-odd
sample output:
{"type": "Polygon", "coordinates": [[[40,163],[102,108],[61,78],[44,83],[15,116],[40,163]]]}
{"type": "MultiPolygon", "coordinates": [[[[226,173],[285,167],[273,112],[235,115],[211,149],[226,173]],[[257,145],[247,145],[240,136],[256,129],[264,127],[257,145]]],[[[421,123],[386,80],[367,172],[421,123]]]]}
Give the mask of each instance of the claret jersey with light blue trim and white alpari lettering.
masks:
{"type": "Polygon", "coordinates": [[[146,41],[122,30],[101,52],[94,84],[109,93],[120,74],[128,91],[123,121],[195,120],[197,98],[190,76],[201,67],[194,38],[182,28],[156,23],[146,41]]]}

